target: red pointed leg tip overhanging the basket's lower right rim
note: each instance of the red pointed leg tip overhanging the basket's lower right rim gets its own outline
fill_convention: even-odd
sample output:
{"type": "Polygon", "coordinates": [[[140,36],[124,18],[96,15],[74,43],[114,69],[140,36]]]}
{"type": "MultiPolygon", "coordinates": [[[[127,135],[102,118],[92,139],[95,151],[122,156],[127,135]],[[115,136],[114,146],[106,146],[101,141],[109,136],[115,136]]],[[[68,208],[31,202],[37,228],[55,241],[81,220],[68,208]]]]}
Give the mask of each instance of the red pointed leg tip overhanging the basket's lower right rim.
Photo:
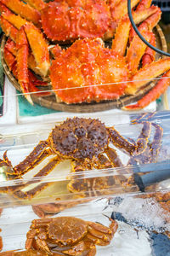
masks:
{"type": "Polygon", "coordinates": [[[123,110],[139,110],[150,104],[150,102],[156,101],[156,99],[161,96],[162,93],[167,90],[167,87],[170,85],[170,71],[165,73],[156,86],[150,90],[139,102],[133,105],[123,107],[123,110]]]}

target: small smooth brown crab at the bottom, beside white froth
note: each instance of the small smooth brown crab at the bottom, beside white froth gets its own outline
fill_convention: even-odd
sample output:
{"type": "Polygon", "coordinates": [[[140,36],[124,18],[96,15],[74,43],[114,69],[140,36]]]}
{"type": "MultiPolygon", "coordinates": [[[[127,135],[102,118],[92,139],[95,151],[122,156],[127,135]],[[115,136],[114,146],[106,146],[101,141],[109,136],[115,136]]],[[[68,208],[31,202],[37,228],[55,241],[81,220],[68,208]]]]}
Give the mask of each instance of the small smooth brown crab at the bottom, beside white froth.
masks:
{"type": "Polygon", "coordinates": [[[95,245],[106,246],[116,233],[117,223],[111,219],[108,227],[75,217],[34,219],[27,233],[26,249],[36,249],[53,255],[96,254],[95,245]]]}

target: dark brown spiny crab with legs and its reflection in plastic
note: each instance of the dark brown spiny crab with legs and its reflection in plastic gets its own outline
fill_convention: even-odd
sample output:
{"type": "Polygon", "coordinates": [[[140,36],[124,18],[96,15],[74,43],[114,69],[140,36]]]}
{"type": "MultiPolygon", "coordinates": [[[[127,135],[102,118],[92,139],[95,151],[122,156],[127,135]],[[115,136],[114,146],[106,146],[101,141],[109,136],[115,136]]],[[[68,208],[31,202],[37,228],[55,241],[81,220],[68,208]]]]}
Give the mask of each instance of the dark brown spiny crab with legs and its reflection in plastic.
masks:
{"type": "Polygon", "coordinates": [[[93,168],[107,169],[123,166],[113,146],[130,157],[128,164],[140,163],[146,156],[147,162],[156,162],[161,148],[162,128],[160,125],[152,125],[148,121],[142,122],[142,125],[142,131],[135,142],[130,138],[122,137],[113,126],[106,127],[99,119],[66,119],[61,125],[56,125],[48,139],[38,143],[31,154],[19,165],[13,167],[8,160],[7,152],[3,154],[1,165],[6,166],[7,179],[21,180],[19,185],[12,188],[4,187],[0,191],[10,193],[20,199],[31,199],[45,189],[49,183],[39,183],[34,189],[23,191],[22,189],[26,188],[28,184],[35,183],[35,181],[23,182],[22,176],[49,155],[54,155],[54,158],[48,160],[48,164],[42,167],[34,175],[34,178],[48,175],[61,161],[68,159],[71,160],[71,177],[69,177],[70,181],[67,185],[69,191],[76,192],[78,197],[111,193],[111,189],[114,189],[116,184],[120,187],[122,180],[126,180],[126,177],[109,175],[103,170],[99,173],[105,173],[105,177],[100,175],[101,177],[88,178],[85,171],[93,168]],[[151,126],[155,129],[152,143],[149,142],[151,126]]]}

